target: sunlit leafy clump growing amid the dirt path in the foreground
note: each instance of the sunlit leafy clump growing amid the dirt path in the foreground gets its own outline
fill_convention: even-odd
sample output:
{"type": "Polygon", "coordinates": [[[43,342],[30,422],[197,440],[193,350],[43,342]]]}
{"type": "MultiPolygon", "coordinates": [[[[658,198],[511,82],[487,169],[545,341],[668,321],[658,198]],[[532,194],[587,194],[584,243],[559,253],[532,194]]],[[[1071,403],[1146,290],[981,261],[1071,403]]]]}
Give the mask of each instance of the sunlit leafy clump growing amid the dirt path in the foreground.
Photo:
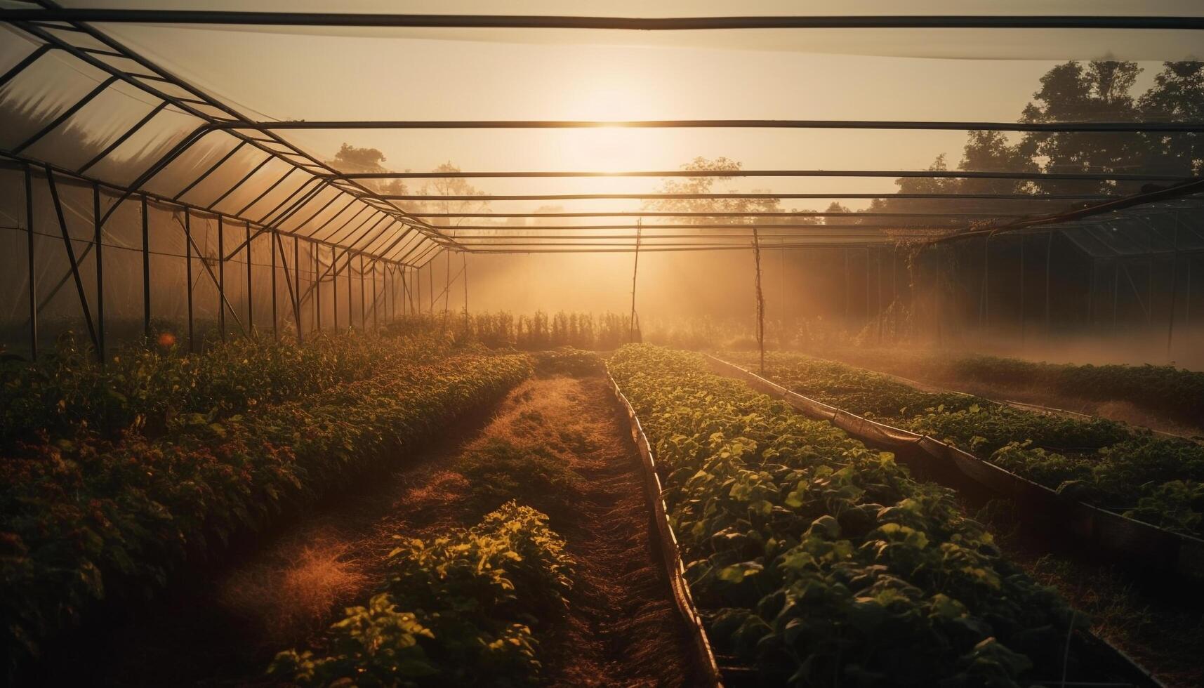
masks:
{"type": "Polygon", "coordinates": [[[536,633],[563,618],[572,559],[548,518],[509,501],[472,529],[401,539],[384,590],[352,607],[321,653],[282,652],[300,686],[526,686],[536,633]]]}

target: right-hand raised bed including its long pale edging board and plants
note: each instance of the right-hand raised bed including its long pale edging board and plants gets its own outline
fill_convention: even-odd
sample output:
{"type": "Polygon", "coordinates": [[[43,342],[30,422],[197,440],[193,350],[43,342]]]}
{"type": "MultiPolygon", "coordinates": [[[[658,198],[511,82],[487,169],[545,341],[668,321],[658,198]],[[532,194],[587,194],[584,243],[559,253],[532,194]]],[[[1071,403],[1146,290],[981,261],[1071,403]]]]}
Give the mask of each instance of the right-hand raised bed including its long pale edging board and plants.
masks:
{"type": "Polygon", "coordinates": [[[710,360],[863,441],[955,468],[1016,501],[1019,513],[1062,527],[1122,561],[1204,577],[1204,540],[1198,537],[1204,504],[1191,499],[1199,487],[1196,476],[1204,472],[1204,447],[1194,442],[1098,418],[1061,418],[966,394],[922,392],[799,354],[767,357],[771,380],[710,360]],[[1058,453],[1052,449],[1057,446],[1070,448],[1058,453]],[[1165,480],[1175,475],[1190,477],[1165,480]],[[1126,500],[1134,505],[1117,507],[1126,500]]]}

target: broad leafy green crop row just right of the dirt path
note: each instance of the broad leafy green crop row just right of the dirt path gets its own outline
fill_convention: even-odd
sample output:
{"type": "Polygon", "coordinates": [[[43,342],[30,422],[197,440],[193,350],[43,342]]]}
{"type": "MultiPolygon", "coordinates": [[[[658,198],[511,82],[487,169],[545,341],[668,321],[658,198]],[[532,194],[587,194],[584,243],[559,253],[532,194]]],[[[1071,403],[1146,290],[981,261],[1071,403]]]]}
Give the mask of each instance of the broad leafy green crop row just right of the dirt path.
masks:
{"type": "MultiPolygon", "coordinates": [[[[697,354],[633,345],[609,367],[666,474],[720,652],[790,686],[1061,675],[1070,608],[1003,559],[952,493],[697,354]]],[[[1066,669],[1087,668],[1072,654],[1066,669]]]]}

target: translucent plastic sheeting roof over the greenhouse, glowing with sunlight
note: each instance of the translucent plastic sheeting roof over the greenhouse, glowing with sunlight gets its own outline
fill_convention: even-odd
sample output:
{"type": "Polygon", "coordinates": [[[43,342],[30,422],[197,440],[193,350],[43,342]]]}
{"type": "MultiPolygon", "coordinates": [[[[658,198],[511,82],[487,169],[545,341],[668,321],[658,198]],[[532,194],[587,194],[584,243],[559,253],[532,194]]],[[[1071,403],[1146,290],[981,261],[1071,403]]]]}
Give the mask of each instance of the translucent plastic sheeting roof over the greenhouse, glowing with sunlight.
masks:
{"type": "MultiPolygon", "coordinates": [[[[801,17],[792,5],[763,2],[742,11],[754,18],[801,17]]],[[[401,6],[361,1],[337,7],[268,0],[77,0],[58,6],[0,1],[0,11],[94,7],[462,16],[496,11],[494,4],[467,1],[401,6]]],[[[642,5],[620,2],[604,11],[585,4],[577,10],[610,17],[689,13],[706,18],[720,17],[727,7],[667,2],[651,13],[642,5]]],[[[1123,23],[1131,10],[1121,2],[1069,0],[1008,6],[1016,16],[1027,12],[1037,24],[1056,16],[1072,17],[1070,23],[1074,17],[1104,23],[1111,17],[1123,23]]],[[[560,2],[520,2],[507,5],[507,11],[561,14],[566,8],[560,2]]],[[[898,12],[893,4],[883,2],[842,6],[840,11],[869,23],[884,12],[898,12]]],[[[974,19],[985,17],[986,10],[928,0],[904,11],[968,13],[974,19]]],[[[1147,2],[1141,13],[1178,17],[1190,28],[1168,28],[1178,27],[1175,19],[1155,22],[1161,28],[1140,28],[1140,17],[1128,19],[1135,28],[1104,29],[697,31],[193,24],[185,20],[195,17],[177,16],[179,23],[172,23],[166,14],[136,22],[112,16],[116,20],[110,23],[25,18],[8,20],[2,29],[12,40],[0,46],[0,118],[5,123],[0,153],[118,190],[148,193],[197,212],[409,265],[423,264],[442,247],[626,249],[637,227],[643,246],[663,248],[746,246],[752,224],[765,236],[791,246],[933,239],[981,230],[984,223],[1010,227],[1015,220],[1105,199],[1098,198],[1098,184],[1084,183],[1081,192],[1076,187],[1057,198],[1014,199],[1015,211],[1001,210],[1007,199],[981,199],[981,207],[964,199],[951,199],[945,207],[942,199],[914,199],[915,212],[904,207],[878,217],[828,216],[824,207],[842,201],[856,213],[873,198],[890,198],[892,178],[901,170],[922,172],[934,154],[956,152],[964,130],[1013,120],[1051,60],[1103,55],[1178,60],[1198,49],[1197,23],[1204,22],[1194,19],[1204,17],[1204,7],[1147,2]],[[799,112],[809,117],[796,120],[801,127],[781,122],[731,127],[734,119],[783,120],[799,112]],[[663,122],[650,128],[512,127],[520,119],[543,122],[549,113],[569,122],[698,116],[715,122],[690,128],[663,127],[663,122]],[[851,119],[878,125],[843,128],[851,119]],[[945,130],[919,127],[945,119],[954,120],[945,130]],[[412,128],[414,120],[430,127],[412,128]],[[448,120],[464,127],[447,129],[443,123],[448,120]],[[819,125],[831,120],[837,128],[819,125]],[[887,128],[907,120],[917,127],[887,128]],[[497,123],[509,124],[497,128],[497,123]],[[341,142],[379,148],[388,169],[336,167],[330,158],[341,142]],[[656,172],[677,171],[695,155],[730,157],[744,163],[745,172],[779,174],[724,178],[696,194],[706,198],[656,198],[666,193],[668,182],[683,181],[656,172]],[[483,176],[431,177],[426,172],[447,160],[483,176]],[[427,177],[354,175],[390,170],[423,170],[427,177]],[[553,176],[619,170],[650,174],[553,176]],[[832,170],[848,176],[827,176],[825,171],[832,170]],[[851,176],[858,171],[863,175],[851,176]],[[498,172],[513,175],[488,176],[498,172]],[[526,176],[530,172],[548,176],[526,176]],[[784,205],[769,211],[756,204],[739,206],[727,216],[713,206],[686,211],[678,204],[665,211],[657,205],[665,200],[718,202],[710,198],[715,193],[744,199],[762,194],[783,199],[784,205]],[[785,214],[751,214],[757,212],[785,214]]],[[[265,16],[261,22],[270,19],[265,16]]],[[[504,23],[504,16],[497,22],[504,23]]],[[[354,17],[343,23],[354,24],[354,17]]],[[[1143,171],[1099,172],[1140,177],[1143,171]]],[[[1149,178],[1168,181],[1165,175],[1149,178]]],[[[673,189],[690,192],[684,186],[673,189]]],[[[910,199],[892,199],[899,201],[910,199]]],[[[1162,200],[1044,227],[1079,228],[1075,241],[1085,251],[1109,255],[1135,251],[1140,243],[1109,242],[1109,231],[1122,234],[1121,229],[1139,228],[1147,216],[1164,218],[1193,202],[1199,201],[1162,200]]],[[[1180,240],[1187,241],[1187,234],[1180,240]]]]}

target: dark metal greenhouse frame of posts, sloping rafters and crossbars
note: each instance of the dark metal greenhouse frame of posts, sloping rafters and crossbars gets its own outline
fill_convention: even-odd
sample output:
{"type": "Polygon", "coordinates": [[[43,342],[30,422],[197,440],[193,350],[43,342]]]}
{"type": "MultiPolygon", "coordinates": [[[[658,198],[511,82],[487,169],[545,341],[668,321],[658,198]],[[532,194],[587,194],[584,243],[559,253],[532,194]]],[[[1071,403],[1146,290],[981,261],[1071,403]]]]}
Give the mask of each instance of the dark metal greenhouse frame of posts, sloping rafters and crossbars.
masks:
{"type": "MultiPolygon", "coordinates": [[[[29,271],[29,346],[36,358],[39,352],[39,314],[59,290],[75,288],[87,325],[89,339],[101,360],[106,352],[105,271],[101,254],[106,223],[122,208],[134,205],[141,212],[142,254],[142,327],[146,336],[152,335],[154,296],[152,289],[152,254],[148,217],[152,210],[164,210],[181,216],[184,235],[184,258],[188,266],[187,321],[188,341],[194,340],[193,280],[207,278],[217,290],[218,328],[228,334],[226,317],[237,329],[250,334],[255,328],[254,307],[258,294],[271,290],[270,310],[273,336],[281,334],[281,316],[285,322],[291,314],[293,329],[299,339],[307,331],[323,329],[321,289],[319,284],[330,282],[332,290],[334,323],[360,328],[376,327],[380,319],[421,310],[420,270],[442,252],[464,253],[566,253],[566,252],[655,252],[655,251],[749,251],[756,247],[781,248],[836,248],[848,252],[863,248],[867,257],[872,249],[887,248],[898,241],[933,245],[960,241],[970,236],[984,236],[984,255],[990,260],[991,237],[1002,233],[1044,233],[1052,241],[1055,233],[1066,234],[1092,259],[1092,288],[1094,288],[1096,263],[1111,261],[1115,265],[1115,294],[1120,288],[1120,275],[1126,259],[1153,260],[1155,255],[1196,255],[1204,252],[1204,235],[1199,224],[1182,220],[1184,216],[1199,218],[1204,213],[1204,180],[1150,171],[1126,172],[988,172],[945,170],[734,170],[734,171],[467,171],[467,172],[354,172],[340,171],[291,143],[281,131],[301,129],[565,129],[565,128],[805,128],[805,129],[899,129],[899,130],[993,130],[993,131],[1049,131],[1049,133],[1204,133],[1204,122],[1064,122],[1064,123],[1003,123],[1003,122],[893,122],[893,120],[780,120],[780,119],[706,119],[706,120],[332,120],[332,122],[260,122],[247,117],[229,102],[206,93],[203,89],[171,73],[144,55],[120,43],[92,23],[134,22],[170,24],[242,24],[242,25],[319,25],[319,27],[455,27],[455,28],[555,28],[555,29],[615,29],[615,30],[712,30],[756,28],[987,28],[987,29],[1204,29],[1204,19],[1196,17],[689,17],[689,18],[616,18],[616,17],[524,17],[524,16],[436,16],[436,14],[347,14],[347,13],[293,13],[293,12],[212,12],[212,11],[146,11],[146,10],[70,10],[54,2],[37,0],[19,2],[28,8],[0,10],[0,23],[11,31],[24,36],[35,47],[31,52],[0,75],[0,89],[19,78],[51,52],[70,55],[81,64],[89,65],[107,77],[95,88],[78,98],[57,116],[28,135],[22,142],[0,149],[0,167],[19,175],[25,196],[25,231],[28,233],[29,271]],[[67,167],[55,165],[36,154],[39,142],[52,140],[70,125],[72,117],[84,112],[87,106],[119,84],[132,87],[155,102],[137,122],[132,123],[107,146],[84,164],[67,167]],[[129,182],[118,183],[95,174],[123,145],[135,139],[161,113],[172,111],[195,118],[199,124],[187,131],[170,148],[140,170],[129,182]],[[217,155],[207,155],[202,142],[220,141],[226,149],[217,155]],[[164,172],[173,163],[201,149],[200,160],[194,165],[199,171],[184,180],[175,193],[149,190],[148,182],[164,172]],[[235,160],[240,154],[253,153],[256,160],[235,160]],[[262,159],[258,159],[261,157],[262,159]],[[236,166],[242,164],[242,166],[236,166]],[[260,178],[268,166],[276,167],[278,176],[267,183],[260,178]],[[236,170],[238,181],[230,187],[207,189],[208,195],[197,198],[219,170],[236,170]],[[279,174],[283,172],[283,174],[279,174]],[[477,177],[914,177],[914,178],[1001,178],[1017,181],[1080,180],[1080,181],[1129,181],[1162,182],[1137,195],[1109,194],[898,194],[887,198],[932,200],[1061,200],[1082,201],[1078,210],[1062,213],[1015,214],[999,212],[407,212],[396,201],[453,201],[453,200],[579,200],[579,199],[807,199],[842,198],[874,199],[884,194],[850,189],[842,193],[813,194],[523,194],[523,195],[409,195],[383,194],[364,183],[366,180],[402,178],[477,178],[477,177]],[[66,253],[66,275],[40,275],[35,255],[35,186],[45,184],[49,193],[58,234],[66,253]],[[77,252],[69,231],[60,188],[90,192],[90,222],[93,236],[77,252]],[[291,189],[290,193],[284,193],[291,189]],[[237,208],[229,201],[237,194],[250,194],[250,202],[237,208]],[[278,202],[265,202],[272,194],[283,195],[278,202]],[[185,196],[188,199],[185,200],[185,196]],[[107,202],[107,206],[106,206],[107,202]],[[224,205],[225,204],[225,205],[224,205]],[[220,206],[220,207],[219,207],[220,206]],[[266,208],[266,211],[265,211],[266,208]],[[254,212],[252,212],[254,211],[254,212]],[[907,218],[908,222],[892,224],[873,222],[868,224],[792,224],[798,218],[842,217],[868,218],[873,220],[907,218]],[[1173,224],[1155,228],[1146,217],[1169,217],[1173,224]],[[466,224],[455,228],[429,222],[444,218],[631,218],[621,224],[544,225],[523,227],[524,233],[506,234],[502,225],[466,224]],[[643,218],[731,218],[730,223],[715,224],[644,224],[643,218]],[[194,241],[193,222],[203,218],[217,224],[216,260],[202,255],[194,241]],[[757,218],[779,219],[781,223],[761,222],[757,218]],[[736,222],[751,220],[751,222],[736,222]],[[1122,246],[1115,236],[1104,236],[1099,228],[1115,229],[1117,225],[1141,225],[1150,234],[1147,246],[1122,246]],[[1180,233],[1184,227],[1185,231],[1180,233]],[[453,230],[449,231],[449,230],[453,230]],[[1073,229],[1073,235],[1067,230],[1073,229]],[[555,235],[541,235],[539,230],[556,230],[555,235]],[[586,230],[584,234],[562,235],[562,230],[586,230]],[[596,234],[600,230],[636,231],[630,234],[596,234]],[[648,230],[649,234],[643,234],[648,230]],[[700,234],[701,230],[727,230],[726,234],[700,234]],[[232,231],[232,234],[231,234],[232,231]],[[485,233],[485,234],[479,234],[485,233]],[[492,233],[492,234],[489,234],[492,233]],[[258,240],[258,243],[256,243],[258,240]],[[615,241],[628,240],[625,243],[615,241]],[[253,246],[266,241],[270,249],[271,278],[267,284],[253,277],[253,246]],[[650,241],[650,243],[643,243],[650,241]],[[1159,243],[1159,246],[1156,246],[1159,243]],[[306,265],[302,267],[301,248],[306,247],[306,265]],[[95,254],[95,284],[85,283],[79,265],[84,257],[95,254]],[[228,300],[228,266],[246,253],[246,316],[243,323],[237,310],[228,300]],[[321,258],[329,254],[329,260],[321,258]],[[201,274],[194,275],[194,258],[200,257],[201,274]],[[326,266],[321,263],[326,260],[326,266]],[[346,276],[343,287],[341,280],[346,276]],[[51,296],[39,299],[36,282],[57,281],[51,296]],[[303,287],[302,281],[308,286],[303,287]],[[354,282],[359,284],[355,286],[354,282]],[[281,284],[283,282],[283,284],[281,284]],[[89,300],[88,292],[95,289],[89,300]],[[283,289],[283,290],[282,290],[283,289]],[[353,308],[353,294],[359,292],[358,313],[353,308]],[[371,298],[365,298],[371,289],[371,298]],[[341,290],[346,290],[341,294],[341,290]],[[418,299],[415,301],[415,293],[418,299]],[[279,300],[283,299],[284,304],[279,300]],[[346,304],[344,304],[346,300],[346,304]],[[399,306],[397,301],[401,301],[399,306]],[[89,306],[94,304],[94,311],[89,306]],[[408,305],[407,305],[408,302],[408,305]],[[307,310],[311,310],[306,314],[307,310]],[[341,317],[342,316],[342,317],[341,317]],[[303,321],[308,318],[305,327],[303,321]]],[[[16,178],[16,175],[13,176],[16,178]]],[[[276,199],[272,198],[272,201],[276,199]]],[[[119,218],[118,218],[119,219],[119,218]]],[[[116,220],[114,220],[116,222],[116,220]]],[[[1112,233],[1114,234],[1114,233],[1112,233]]],[[[58,239],[57,237],[57,239],[58,239]]],[[[47,239],[43,236],[42,239],[47,239]]],[[[1023,249],[1022,249],[1023,251],[1023,249]]],[[[1022,254],[1023,255],[1023,254],[1022,254]]],[[[1022,258],[1023,259],[1023,258],[1022,258]]],[[[1045,253],[1046,270],[1049,249],[1045,253]]],[[[848,260],[846,260],[848,264],[848,260]]],[[[1152,265],[1152,263],[1151,263],[1152,265]]],[[[1178,265],[1178,261],[1176,261],[1178,265]]],[[[265,267],[260,265],[260,267],[265,267]]],[[[880,271],[879,263],[879,271],[880,271]]],[[[869,260],[867,270],[867,308],[869,298],[869,260]]],[[[1191,258],[1187,264],[1188,280],[1191,258]]],[[[466,272],[466,267],[461,274],[466,272]]],[[[430,274],[430,271],[429,271],[430,274]]],[[[459,277],[459,275],[458,275],[459,277]]],[[[242,280],[242,276],[238,277],[242,280]]],[[[988,314],[987,276],[982,277],[984,318],[988,314]]],[[[433,304],[433,283],[430,283],[433,304]]],[[[448,281],[450,284],[450,270],[448,281]]],[[[880,277],[879,277],[880,280],[880,277]]],[[[1151,267],[1152,280],[1152,267],[1151,267]]],[[[1140,289],[1128,277],[1133,293],[1140,300],[1140,289]]],[[[1188,282],[1190,284],[1190,282],[1188,282]]],[[[879,289],[881,284],[879,283],[879,289]]],[[[1021,287],[1022,288],[1022,287],[1021,287]]],[[[1176,283],[1178,288],[1178,283],[1176,283]]],[[[444,288],[447,290],[447,287],[444,288]]],[[[1152,284],[1150,286],[1152,293],[1152,284]]],[[[1190,298],[1190,287],[1188,287],[1190,298]]],[[[1045,317],[1049,318],[1049,282],[1046,281],[1045,317]]],[[[1023,301],[1021,301],[1023,302],[1023,301]]],[[[261,300],[259,307],[265,307],[261,300]]],[[[1149,306],[1149,304],[1146,304],[1149,306]]],[[[1088,310],[1091,308],[1088,300],[1088,310]]],[[[1147,308],[1152,312],[1152,308],[1147,308]]],[[[1190,308],[1188,308],[1190,316],[1190,308]]],[[[1171,306],[1170,331],[1174,329],[1171,306]]],[[[1168,333],[1168,337],[1169,337],[1168,333]]]]}

